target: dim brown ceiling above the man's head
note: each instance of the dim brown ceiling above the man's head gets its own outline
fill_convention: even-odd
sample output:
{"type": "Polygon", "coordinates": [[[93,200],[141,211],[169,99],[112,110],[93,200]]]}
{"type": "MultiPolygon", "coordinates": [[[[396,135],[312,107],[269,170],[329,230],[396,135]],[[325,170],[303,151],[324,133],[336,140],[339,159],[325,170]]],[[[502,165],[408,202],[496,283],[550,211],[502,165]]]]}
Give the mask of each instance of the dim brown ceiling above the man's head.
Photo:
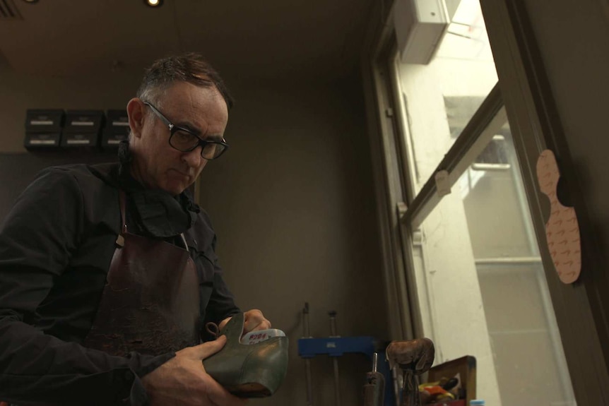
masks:
{"type": "MultiPolygon", "coordinates": [[[[140,72],[198,51],[223,76],[339,78],[357,69],[374,0],[0,0],[0,53],[16,71],[81,76],[140,72]]],[[[0,55],[1,59],[1,55],[0,55]]]]}

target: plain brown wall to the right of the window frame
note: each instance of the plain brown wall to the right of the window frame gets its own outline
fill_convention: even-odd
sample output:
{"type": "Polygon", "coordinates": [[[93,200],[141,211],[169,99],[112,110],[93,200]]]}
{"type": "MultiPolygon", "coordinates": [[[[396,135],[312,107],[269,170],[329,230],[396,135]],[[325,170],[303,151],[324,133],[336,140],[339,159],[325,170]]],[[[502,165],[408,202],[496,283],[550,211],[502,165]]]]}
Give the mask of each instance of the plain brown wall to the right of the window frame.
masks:
{"type": "Polygon", "coordinates": [[[609,248],[609,4],[525,1],[588,209],[609,248]],[[574,13],[577,10],[577,13],[574,13]]]}

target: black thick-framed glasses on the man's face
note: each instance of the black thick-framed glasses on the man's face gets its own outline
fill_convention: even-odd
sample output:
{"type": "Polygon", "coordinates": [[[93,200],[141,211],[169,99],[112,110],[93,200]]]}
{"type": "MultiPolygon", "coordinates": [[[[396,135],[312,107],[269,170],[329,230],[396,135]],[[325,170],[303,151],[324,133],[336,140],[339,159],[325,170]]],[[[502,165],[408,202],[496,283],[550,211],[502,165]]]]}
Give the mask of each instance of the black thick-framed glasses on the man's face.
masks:
{"type": "Polygon", "coordinates": [[[201,157],[206,160],[215,160],[215,158],[225,153],[228,149],[228,144],[224,139],[222,141],[203,140],[191,130],[172,124],[171,121],[162,115],[162,113],[151,103],[143,102],[143,104],[150,107],[150,110],[153,111],[156,117],[169,128],[169,145],[171,145],[172,148],[182,151],[183,153],[188,153],[201,145],[201,157]]]}

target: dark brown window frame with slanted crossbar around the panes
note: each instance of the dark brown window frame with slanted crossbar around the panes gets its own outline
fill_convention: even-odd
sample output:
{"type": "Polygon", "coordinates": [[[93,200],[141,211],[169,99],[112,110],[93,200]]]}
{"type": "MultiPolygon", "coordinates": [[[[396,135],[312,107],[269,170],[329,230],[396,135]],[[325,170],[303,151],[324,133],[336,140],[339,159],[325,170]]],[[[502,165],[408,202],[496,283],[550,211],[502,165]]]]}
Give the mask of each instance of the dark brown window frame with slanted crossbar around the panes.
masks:
{"type": "MultiPolygon", "coordinates": [[[[586,244],[582,237],[581,280],[573,285],[564,285],[555,273],[549,251],[543,249],[546,246],[544,219],[548,216],[549,203],[538,189],[536,161],[544,149],[555,152],[568,191],[576,196],[574,207],[582,235],[592,233],[593,228],[577,179],[570,170],[569,149],[564,141],[545,68],[536,51],[536,40],[526,6],[522,0],[480,0],[480,6],[495,58],[499,86],[492,90],[492,95],[478,109],[437,170],[447,169],[449,173],[457,175],[453,179],[458,179],[459,167],[470,159],[471,148],[480,144],[480,129],[488,124],[492,118],[490,114],[497,112],[497,106],[504,105],[577,404],[609,404],[609,324],[603,311],[609,308],[609,299],[596,290],[604,285],[597,286],[595,283],[607,278],[607,273],[601,272],[605,265],[603,256],[593,241],[586,244]],[[585,343],[582,343],[582,335],[586,337],[585,343]]],[[[410,158],[404,136],[407,129],[403,128],[395,113],[401,108],[401,100],[396,78],[391,75],[391,61],[388,60],[391,49],[396,47],[393,13],[393,7],[382,1],[377,10],[379,20],[369,28],[362,56],[362,72],[364,81],[370,80],[372,83],[372,91],[365,88],[365,94],[371,146],[375,143],[379,145],[377,150],[372,149],[372,157],[381,213],[379,221],[385,222],[380,232],[384,253],[392,257],[392,266],[384,268],[386,285],[391,285],[391,282],[398,284],[387,305],[389,314],[397,315],[401,328],[394,326],[390,330],[398,335],[401,333],[401,337],[394,336],[393,339],[407,340],[422,334],[419,292],[416,292],[411,271],[413,248],[419,236],[417,230],[410,226],[420,224],[439,198],[433,178],[426,182],[418,196],[413,196],[408,165],[403,165],[410,158]],[[387,241],[391,246],[386,245],[387,241]]],[[[389,319],[390,325],[396,323],[389,319]]]]}

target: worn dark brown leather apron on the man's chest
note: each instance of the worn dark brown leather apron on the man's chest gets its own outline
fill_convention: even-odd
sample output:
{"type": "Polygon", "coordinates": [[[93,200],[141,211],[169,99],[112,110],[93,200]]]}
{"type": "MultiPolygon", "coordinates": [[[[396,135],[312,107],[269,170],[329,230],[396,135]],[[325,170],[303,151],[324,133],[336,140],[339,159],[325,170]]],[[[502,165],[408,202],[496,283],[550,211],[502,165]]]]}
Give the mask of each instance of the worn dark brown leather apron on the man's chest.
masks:
{"type": "Polygon", "coordinates": [[[199,343],[199,280],[184,249],[130,234],[125,194],[120,191],[122,229],[117,238],[97,316],[83,346],[124,356],[159,355],[199,343]]]}

